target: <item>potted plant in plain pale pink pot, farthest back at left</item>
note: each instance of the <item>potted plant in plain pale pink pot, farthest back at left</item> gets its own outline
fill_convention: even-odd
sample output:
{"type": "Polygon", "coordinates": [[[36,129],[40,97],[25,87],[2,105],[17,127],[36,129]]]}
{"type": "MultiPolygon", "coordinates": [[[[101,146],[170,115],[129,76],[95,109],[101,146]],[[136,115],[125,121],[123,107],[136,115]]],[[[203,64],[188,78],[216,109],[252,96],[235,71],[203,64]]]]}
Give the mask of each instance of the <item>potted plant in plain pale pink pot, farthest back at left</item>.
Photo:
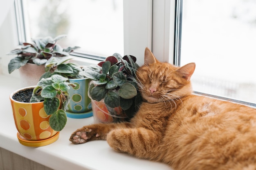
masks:
{"type": "Polygon", "coordinates": [[[79,48],[67,47],[62,48],[56,44],[58,40],[66,37],[60,35],[56,38],[43,37],[31,39],[31,42],[23,43],[20,48],[14,49],[7,55],[17,55],[8,64],[9,74],[16,69],[19,69],[23,85],[36,85],[40,76],[45,72],[44,64],[51,57],[66,57],[70,52],[79,48]],[[31,78],[32,76],[32,78],[31,78]]]}

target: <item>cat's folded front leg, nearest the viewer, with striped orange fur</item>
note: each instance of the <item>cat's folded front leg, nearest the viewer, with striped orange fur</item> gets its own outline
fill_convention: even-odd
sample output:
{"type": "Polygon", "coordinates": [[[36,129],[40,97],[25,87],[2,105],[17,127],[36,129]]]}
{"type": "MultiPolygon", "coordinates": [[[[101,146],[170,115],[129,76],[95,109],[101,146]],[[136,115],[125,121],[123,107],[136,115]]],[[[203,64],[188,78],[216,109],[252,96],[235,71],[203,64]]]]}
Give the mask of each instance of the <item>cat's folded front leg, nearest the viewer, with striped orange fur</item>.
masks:
{"type": "Polygon", "coordinates": [[[114,150],[146,158],[159,144],[159,136],[145,128],[115,129],[108,133],[107,142],[114,150]]]}

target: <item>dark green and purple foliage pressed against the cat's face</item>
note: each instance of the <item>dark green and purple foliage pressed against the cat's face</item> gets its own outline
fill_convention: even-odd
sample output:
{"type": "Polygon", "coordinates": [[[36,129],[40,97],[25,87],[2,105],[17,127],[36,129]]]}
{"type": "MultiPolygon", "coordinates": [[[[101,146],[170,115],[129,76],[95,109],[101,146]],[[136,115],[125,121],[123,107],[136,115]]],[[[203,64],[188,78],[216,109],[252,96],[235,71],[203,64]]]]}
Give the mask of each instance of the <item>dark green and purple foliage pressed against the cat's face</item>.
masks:
{"type": "Polygon", "coordinates": [[[93,80],[89,86],[89,94],[93,100],[104,99],[108,107],[121,107],[131,117],[135,112],[135,102],[139,101],[137,84],[133,81],[139,66],[136,57],[113,54],[98,65],[84,68],[81,75],[93,80]]]}

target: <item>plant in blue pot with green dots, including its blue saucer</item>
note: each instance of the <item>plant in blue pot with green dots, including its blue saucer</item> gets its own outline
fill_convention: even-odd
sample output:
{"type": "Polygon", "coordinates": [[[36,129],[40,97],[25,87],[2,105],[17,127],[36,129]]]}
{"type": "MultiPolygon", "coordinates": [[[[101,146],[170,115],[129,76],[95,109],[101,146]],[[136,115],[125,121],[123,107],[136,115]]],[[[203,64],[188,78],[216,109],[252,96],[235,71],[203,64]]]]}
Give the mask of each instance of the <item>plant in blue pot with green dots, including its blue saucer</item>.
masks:
{"type": "Polygon", "coordinates": [[[54,74],[67,77],[70,83],[76,85],[68,90],[70,102],[66,114],[70,118],[88,118],[92,116],[91,99],[88,97],[89,78],[81,76],[82,71],[77,63],[66,63],[70,59],[52,57],[45,63],[45,72],[41,78],[47,78],[54,74]]]}

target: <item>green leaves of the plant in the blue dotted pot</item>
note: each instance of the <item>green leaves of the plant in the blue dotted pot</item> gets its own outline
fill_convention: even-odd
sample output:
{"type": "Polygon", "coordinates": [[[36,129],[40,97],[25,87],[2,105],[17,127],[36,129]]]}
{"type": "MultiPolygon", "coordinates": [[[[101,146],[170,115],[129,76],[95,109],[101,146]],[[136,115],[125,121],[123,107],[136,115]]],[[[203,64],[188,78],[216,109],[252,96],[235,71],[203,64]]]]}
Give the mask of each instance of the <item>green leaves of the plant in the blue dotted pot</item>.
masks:
{"type": "Polygon", "coordinates": [[[84,76],[79,74],[82,69],[77,63],[66,63],[70,59],[71,58],[51,57],[45,63],[46,72],[40,79],[51,77],[54,74],[59,74],[67,78],[84,78],[84,76]]]}

